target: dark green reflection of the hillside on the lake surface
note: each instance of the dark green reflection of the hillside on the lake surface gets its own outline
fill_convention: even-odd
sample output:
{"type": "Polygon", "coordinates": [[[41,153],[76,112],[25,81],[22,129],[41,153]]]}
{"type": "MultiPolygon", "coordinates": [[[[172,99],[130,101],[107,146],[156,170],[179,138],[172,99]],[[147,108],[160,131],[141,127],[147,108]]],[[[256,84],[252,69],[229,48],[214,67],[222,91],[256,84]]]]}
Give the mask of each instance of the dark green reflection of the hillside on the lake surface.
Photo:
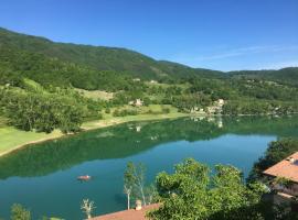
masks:
{"type": "Polygon", "coordinates": [[[214,118],[136,122],[24,147],[0,158],[0,178],[42,176],[93,160],[123,158],[158,144],[210,140],[226,133],[298,134],[296,118],[214,118]],[[296,120],[295,120],[296,119],[296,120]]]}

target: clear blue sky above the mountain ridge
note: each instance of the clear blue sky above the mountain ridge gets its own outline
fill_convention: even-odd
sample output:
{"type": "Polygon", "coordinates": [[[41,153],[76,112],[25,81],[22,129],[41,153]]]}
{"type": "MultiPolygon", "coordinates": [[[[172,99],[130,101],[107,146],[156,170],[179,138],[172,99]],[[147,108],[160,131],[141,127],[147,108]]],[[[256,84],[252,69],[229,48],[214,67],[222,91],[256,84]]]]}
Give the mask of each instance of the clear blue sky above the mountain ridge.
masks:
{"type": "Polygon", "coordinates": [[[1,0],[0,26],[192,67],[298,66],[298,0],[1,0]]]}

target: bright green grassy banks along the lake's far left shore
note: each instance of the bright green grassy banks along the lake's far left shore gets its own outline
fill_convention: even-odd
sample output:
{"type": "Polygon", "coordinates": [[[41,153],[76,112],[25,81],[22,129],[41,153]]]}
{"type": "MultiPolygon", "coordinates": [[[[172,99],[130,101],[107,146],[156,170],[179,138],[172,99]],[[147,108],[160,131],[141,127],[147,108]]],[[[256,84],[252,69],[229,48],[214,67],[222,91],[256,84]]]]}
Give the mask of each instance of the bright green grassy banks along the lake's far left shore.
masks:
{"type": "MultiPolygon", "coordinates": [[[[127,117],[108,117],[103,120],[89,121],[82,124],[83,131],[107,128],[132,121],[150,121],[162,119],[175,119],[187,117],[187,113],[171,112],[166,114],[138,114],[127,117]]],[[[50,134],[43,132],[26,132],[18,130],[13,127],[0,127],[0,156],[9,154],[15,150],[24,147],[29,144],[41,143],[44,141],[55,140],[65,136],[62,132],[55,130],[50,134]]]]}

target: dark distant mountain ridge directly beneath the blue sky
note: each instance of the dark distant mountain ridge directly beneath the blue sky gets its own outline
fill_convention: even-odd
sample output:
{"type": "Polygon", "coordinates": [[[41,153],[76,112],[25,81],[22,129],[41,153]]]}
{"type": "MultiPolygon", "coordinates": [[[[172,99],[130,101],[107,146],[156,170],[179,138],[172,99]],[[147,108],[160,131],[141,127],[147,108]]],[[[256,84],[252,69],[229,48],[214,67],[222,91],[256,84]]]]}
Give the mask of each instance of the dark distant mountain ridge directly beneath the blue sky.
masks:
{"type": "MultiPolygon", "coordinates": [[[[193,68],[183,64],[157,61],[139,52],[124,47],[93,46],[74,43],[53,42],[43,36],[17,33],[0,28],[0,50],[22,51],[57,58],[62,63],[78,65],[94,72],[115,72],[146,80],[167,78],[226,78],[244,77],[277,80],[298,85],[298,67],[278,70],[237,70],[221,72],[193,68]],[[297,82],[296,82],[297,81],[297,82]]],[[[1,61],[0,61],[1,62],[1,61]]],[[[68,76],[67,76],[68,77],[68,76]]]]}

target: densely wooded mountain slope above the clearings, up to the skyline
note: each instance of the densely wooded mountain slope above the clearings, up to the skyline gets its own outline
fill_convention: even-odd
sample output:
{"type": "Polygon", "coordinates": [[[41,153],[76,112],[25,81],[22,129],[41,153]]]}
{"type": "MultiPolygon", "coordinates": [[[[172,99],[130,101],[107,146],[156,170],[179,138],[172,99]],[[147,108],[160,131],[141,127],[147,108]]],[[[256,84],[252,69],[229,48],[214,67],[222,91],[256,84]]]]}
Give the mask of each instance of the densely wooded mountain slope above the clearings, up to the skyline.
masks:
{"type": "Polygon", "coordinates": [[[223,73],[156,61],[126,48],[55,43],[0,28],[0,82],[15,81],[20,76],[43,85],[72,85],[88,90],[124,89],[132,78],[169,81],[232,77],[298,85],[297,67],[223,73]]]}

